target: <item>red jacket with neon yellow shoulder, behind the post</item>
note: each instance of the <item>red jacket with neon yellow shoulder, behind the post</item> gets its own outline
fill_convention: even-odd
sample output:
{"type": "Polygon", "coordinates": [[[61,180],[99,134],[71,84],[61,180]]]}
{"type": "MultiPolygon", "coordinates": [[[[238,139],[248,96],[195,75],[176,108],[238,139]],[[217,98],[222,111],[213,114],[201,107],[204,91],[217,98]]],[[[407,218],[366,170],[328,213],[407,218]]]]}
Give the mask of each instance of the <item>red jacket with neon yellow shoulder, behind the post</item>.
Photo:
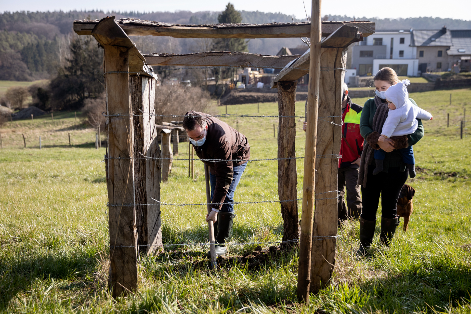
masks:
{"type": "MultiPolygon", "coordinates": [[[[348,97],[348,96],[347,96],[348,97]]],[[[341,158],[339,158],[339,168],[355,167],[359,168],[357,164],[352,165],[352,161],[356,161],[363,152],[363,137],[360,134],[360,116],[363,107],[353,104],[350,97],[348,97],[347,107],[342,113],[342,143],[340,146],[341,158]]]]}

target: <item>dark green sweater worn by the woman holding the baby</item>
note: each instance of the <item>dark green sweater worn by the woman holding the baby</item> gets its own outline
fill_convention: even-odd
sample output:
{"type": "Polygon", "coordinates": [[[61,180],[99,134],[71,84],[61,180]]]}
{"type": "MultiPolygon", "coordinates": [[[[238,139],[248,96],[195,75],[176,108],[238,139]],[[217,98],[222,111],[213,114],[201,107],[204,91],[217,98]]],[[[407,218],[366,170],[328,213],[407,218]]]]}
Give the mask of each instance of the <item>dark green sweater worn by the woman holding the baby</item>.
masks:
{"type": "MultiPolygon", "coordinates": [[[[409,100],[417,105],[412,98],[409,100]]],[[[360,134],[365,138],[364,145],[366,144],[366,137],[373,132],[373,117],[376,113],[376,105],[374,105],[374,98],[370,98],[365,102],[360,118],[360,134]]],[[[407,135],[407,143],[409,146],[415,145],[423,137],[423,124],[422,120],[417,119],[419,125],[414,133],[407,135]]],[[[383,163],[383,172],[388,172],[389,167],[399,167],[399,171],[406,170],[406,164],[402,161],[402,155],[398,150],[393,150],[391,153],[386,153],[383,163]]]]}

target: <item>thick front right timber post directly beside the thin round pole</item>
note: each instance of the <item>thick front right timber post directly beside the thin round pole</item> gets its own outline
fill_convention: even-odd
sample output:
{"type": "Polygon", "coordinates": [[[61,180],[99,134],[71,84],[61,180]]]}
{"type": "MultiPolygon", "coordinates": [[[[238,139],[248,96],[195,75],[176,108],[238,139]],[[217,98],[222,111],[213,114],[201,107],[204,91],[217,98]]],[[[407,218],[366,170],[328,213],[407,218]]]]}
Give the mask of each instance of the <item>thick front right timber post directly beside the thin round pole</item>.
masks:
{"type": "Polygon", "coordinates": [[[317,124],[316,212],[311,256],[311,291],[317,293],[330,281],[335,264],[337,239],[337,170],[336,155],[341,145],[342,82],[347,61],[347,49],[322,48],[319,91],[319,117],[317,124]],[[333,123],[332,123],[333,122],[333,123]],[[334,124],[335,123],[335,124],[334,124]],[[322,238],[324,237],[325,238],[322,238]],[[322,240],[318,240],[322,239],[322,240]]]}

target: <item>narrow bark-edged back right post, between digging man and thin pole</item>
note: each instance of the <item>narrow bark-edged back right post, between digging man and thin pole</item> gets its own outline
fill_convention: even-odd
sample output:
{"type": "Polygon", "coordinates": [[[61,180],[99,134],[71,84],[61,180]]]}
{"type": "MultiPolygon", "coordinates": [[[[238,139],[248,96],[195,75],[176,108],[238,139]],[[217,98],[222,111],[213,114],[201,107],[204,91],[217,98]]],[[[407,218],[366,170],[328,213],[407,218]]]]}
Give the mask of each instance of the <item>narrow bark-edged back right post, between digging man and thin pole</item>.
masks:
{"type": "MultiPolygon", "coordinates": [[[[278,82],[278,158],[296,157],[294,148],[296,138],[296,124],[294,108],[296,105],[296,82],[278,82]]],[[[296,186],[296,159],[278,160],[278,197],[280,201],[296,200],[298,193],[296,186]]],[[[299,239],[298,201],[280,202],[281,216],[283,217],[283,241],[299,239]]],[[[296,244],[286,243],[287,247],[296,244]]]]}

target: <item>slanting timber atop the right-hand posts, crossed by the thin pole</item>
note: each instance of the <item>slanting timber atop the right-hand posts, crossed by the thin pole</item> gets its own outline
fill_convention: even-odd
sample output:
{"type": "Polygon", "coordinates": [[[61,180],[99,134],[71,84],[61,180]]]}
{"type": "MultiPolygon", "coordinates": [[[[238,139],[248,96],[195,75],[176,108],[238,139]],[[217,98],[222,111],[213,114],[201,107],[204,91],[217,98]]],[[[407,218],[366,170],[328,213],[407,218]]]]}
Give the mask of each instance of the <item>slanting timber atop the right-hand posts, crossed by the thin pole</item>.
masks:
{"type": "MultiPolygon", "coordinates": [[[[322,48],[346,48],[354,42],[363,40],[363,35],[357,27],[342,25],[335,32],[321,41],[322,48]]],[[[299,59],[287,65],[270,83],[272,89],[276,89],[278,81],[296,81],[309,73],[310,50],[306,51],[299,59]]]]}

